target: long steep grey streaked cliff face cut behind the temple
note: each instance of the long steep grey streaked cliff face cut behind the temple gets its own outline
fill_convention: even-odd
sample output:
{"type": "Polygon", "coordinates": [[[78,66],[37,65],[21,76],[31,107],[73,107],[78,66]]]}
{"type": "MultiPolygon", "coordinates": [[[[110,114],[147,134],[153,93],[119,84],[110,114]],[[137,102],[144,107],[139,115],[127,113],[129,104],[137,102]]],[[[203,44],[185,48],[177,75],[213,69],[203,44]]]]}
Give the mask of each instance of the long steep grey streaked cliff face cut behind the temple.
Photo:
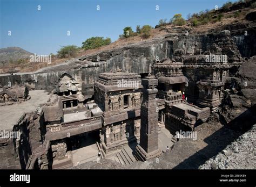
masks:
{"type": "MultiPolygon", "coordinates": [[[[230,28],[231,37],[242,57],[251,57],[255,53],[255,26],[252,24],[225,26],[230,28]],[[248,35],[245,35],[247,31],[248,35]]],[[[214,32],[220,31],[216,28],[214,32]]],[[[218,33],[198,35],[187,26],[177,27],[170,34],[141,41],[137,44],[123,46],[110,51],[103,51],[92,55],[72,59],[55,67],[44,68],[38,73],[0,76],[3,85],[26,83],[30,89],[44,89],[49,92],[55,90],[58,78],[64,73],[70,74],[84,85],[84,93],[92,95],[93,81],[99,73],[111,71],[116,67],[131,73],[150,73],[151,66],[156,60],[166,59],[178,53],[185,55],[204,54],[218,39],[218,33]],[[186,31],[190,31],[188,35],[186,31]]],[[[89,96],[90,97],[90,96],[89,96]]]]}

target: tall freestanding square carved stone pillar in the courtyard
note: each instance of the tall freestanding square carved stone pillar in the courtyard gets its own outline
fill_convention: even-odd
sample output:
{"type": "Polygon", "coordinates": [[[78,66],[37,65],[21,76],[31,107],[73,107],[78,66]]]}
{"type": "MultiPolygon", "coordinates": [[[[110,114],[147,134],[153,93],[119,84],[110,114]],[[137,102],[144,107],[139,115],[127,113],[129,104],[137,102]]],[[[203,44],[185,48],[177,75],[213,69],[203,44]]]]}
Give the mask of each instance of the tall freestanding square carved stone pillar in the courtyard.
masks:
{"type": "Polygon", "coordinates": [[[156,102],[158,80],[154,76],[142,79],[143,101],[140,106],[140,143],[136,156],[145,161],[161,154],[158,148],[158,106],[156,102]]]}

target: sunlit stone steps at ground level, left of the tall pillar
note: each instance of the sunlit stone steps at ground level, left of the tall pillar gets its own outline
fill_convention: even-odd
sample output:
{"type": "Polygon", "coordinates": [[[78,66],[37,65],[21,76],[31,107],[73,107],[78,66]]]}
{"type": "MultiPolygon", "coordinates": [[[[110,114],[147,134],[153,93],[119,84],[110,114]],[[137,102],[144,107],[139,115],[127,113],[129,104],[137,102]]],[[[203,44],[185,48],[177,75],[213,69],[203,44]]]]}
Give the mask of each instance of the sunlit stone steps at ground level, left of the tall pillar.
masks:
{"type": "Polygon", "coordinates": [[[111,160],[119,162],[120,164],[125,166],[136,162],[136,159],[132,154],[132,150],[127,148],[122,148],[120,152],[118,152],[111,158],[111,160]]]}

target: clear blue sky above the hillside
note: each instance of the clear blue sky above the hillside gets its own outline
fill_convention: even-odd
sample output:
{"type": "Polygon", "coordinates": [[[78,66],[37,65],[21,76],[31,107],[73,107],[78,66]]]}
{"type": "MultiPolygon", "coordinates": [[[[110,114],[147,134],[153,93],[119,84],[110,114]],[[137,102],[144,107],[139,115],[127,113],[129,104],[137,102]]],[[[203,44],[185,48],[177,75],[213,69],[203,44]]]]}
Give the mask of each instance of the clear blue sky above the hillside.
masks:
{"type": "MultiPolygon", "coordinates": [[[[0,48],[56,54],[90,37],[119,38],[125,26],[156,26],[162,18],[221,7],[226,0],[0,0],[0,48]],[[41,10],[38,9],[41,6],[41,10]],[[97,10],[97,5],[100,10],[97,10]],[[156,10],[156,6],[159,10],[156,10]],[[11,36],[8,35],[11,31],[11,36]],[[70,35],[67,32],[70,31],[70,35]]],[[[234,2],[234,1],[232,1],[234,2]]]]}

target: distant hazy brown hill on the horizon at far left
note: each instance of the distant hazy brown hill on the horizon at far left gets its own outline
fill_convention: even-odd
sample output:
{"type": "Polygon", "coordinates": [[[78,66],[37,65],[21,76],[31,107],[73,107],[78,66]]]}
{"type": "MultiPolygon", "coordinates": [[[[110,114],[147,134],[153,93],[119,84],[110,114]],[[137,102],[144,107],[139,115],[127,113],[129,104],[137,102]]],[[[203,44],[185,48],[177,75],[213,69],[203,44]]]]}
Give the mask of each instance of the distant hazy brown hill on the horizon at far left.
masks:
{"type": "Polygon", "coordinates": [[[20,59],[27,59],[32,53],[25,51],[20,47],[7,47],[0,49],[0,64],[1,66],[9,65],[12,62],[17,62],[20,59]]]}

